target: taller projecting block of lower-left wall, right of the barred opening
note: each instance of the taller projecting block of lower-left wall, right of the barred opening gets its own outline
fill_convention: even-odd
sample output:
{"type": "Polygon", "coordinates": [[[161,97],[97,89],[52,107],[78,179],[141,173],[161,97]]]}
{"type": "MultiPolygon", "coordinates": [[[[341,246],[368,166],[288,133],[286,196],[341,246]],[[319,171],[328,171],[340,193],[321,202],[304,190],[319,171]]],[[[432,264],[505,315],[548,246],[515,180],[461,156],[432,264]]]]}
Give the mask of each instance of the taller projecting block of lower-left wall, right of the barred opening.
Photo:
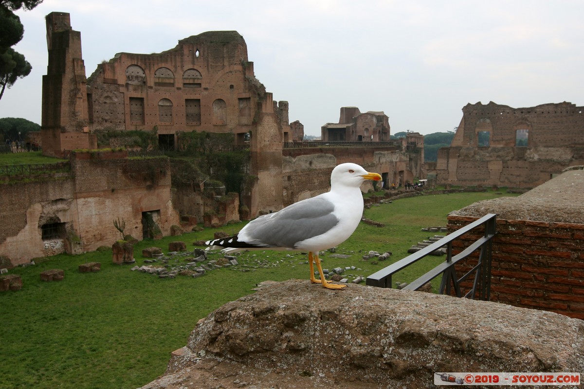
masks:
{"type": "Polygon", "coordinates": [[[78,231],[85,251],[119,239],[113,220],[126,222],[126,234],[141,240],[142,212],[155,212],[162,235],[179,224],[172,207],[168,158],[127,159],[126,152],[72,154],[78,204],[78,231]]]}

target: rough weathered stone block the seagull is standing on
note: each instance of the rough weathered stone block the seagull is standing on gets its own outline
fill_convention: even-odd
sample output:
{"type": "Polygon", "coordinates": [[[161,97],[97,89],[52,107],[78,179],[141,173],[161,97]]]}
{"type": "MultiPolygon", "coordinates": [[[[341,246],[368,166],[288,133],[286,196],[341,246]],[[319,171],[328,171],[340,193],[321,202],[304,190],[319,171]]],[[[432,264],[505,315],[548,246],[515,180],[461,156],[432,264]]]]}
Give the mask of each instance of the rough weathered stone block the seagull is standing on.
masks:
{"type": "Polygon", "coordinates": [[[584,322],[408,290],[291,280],[197,323],[142,389],[420,388],[436,372],[582,372],[584,322]]]}

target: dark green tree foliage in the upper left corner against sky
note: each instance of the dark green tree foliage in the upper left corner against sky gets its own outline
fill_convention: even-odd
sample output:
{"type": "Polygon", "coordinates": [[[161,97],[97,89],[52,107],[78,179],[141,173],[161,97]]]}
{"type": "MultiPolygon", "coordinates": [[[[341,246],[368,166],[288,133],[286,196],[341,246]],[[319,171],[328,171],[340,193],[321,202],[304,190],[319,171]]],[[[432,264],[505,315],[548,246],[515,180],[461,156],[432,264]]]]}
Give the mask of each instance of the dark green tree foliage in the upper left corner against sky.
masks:
{"type": "Polygon", "coordinates": [[[32,70],[25,56],[13,50],[12,46],[22,40],[25,27],[14,11],[21,8],[31,10],[43,0],[0,0],[0,99],[6,87],[14,85],[17,79],[26,77],[32,70]]]}

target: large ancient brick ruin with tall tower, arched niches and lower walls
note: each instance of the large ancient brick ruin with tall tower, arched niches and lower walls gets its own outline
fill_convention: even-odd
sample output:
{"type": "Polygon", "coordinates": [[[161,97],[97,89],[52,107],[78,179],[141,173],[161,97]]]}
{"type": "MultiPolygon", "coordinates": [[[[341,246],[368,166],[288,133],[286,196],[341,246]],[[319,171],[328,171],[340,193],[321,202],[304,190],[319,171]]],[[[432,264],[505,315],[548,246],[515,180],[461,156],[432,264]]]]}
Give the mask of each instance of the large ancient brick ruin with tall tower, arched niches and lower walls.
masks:
{"type": "MultiPolygon", "coordinates": [[[[364,142],[389,139],[383,113],[360,114],[348,124],[362,145],[303,146],[304,126],[289,124],[287,101],[274,101],[256,79],[237,31],[191,36],[155,54],[121,52],[86,78],[81,33],[72,30],[69,14],[50,13],[46,27],[40,138],[45,155],[69,157],[71,171],[0,188],[11,204],[1,211],[7,222],[0,226],[0,253],[9,253],[12,265],[111,247],[119,239],[116,218],[136,239],[168,236],[182,216],[207,222],[213,198],[225,195],[210,200],[204,184],[193,180],[173,187],[166,157],[128,159],[124,145],[97,149],[100,131],[150,132],[164,149],[178,146],[181,133],[233,134],[235,148],[249,149],[249,188],[236,198],[224,196],[210,225],[255,218],[325,192],[332,168],[343,162],[381,173],[386,185],[422,175],[423,136],[364,142]],[[369,131],[373,138],[363,138],[369,131]]],[[[347,122],[359,114],[355,107],[341,111],[347,122]]]]}

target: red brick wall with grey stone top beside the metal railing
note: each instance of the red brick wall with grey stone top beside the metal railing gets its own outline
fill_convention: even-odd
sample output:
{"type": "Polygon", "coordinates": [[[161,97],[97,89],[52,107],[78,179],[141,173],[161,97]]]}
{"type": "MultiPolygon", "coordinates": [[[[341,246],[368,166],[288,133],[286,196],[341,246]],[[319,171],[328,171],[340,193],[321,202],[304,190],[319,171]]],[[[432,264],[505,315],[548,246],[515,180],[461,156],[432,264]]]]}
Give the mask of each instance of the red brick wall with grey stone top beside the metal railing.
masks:
{"type": "MultiPolygon", "coordinates": [[[[453,232],[486,213],[498,214],[492,301],[584,319],[582,193],[584,170],[567,170],[519,197],[480,201],[449,215],[453,232]]],[[[465,237],[454,251],[477,238],[465,237]]],[[[467,260],[458,269],[459,276],[476,262],[467,260]]]]}

